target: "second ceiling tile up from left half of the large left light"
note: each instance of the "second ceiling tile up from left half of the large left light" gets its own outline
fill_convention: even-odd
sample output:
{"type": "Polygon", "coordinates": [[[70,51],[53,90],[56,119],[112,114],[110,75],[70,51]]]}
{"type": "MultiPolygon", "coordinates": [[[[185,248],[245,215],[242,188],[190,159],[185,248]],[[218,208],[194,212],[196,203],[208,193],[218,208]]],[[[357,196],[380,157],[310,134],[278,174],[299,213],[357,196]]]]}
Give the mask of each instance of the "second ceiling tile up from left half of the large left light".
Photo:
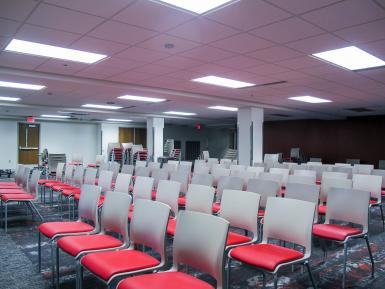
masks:
{"type": "Polygon", "coordinates": [[[27,20],[30,24],[81,34],[87,33],[102,21],[100,17],[48,4],[40,4],[27,20]]]}

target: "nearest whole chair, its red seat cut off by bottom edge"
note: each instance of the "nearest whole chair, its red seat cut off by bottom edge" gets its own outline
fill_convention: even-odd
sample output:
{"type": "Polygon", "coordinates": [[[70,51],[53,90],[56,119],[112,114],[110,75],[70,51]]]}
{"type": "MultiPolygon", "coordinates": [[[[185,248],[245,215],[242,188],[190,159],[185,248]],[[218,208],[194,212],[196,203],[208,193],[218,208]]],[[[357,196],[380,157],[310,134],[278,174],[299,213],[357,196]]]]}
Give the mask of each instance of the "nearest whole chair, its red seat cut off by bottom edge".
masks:
{"type": "Polygon", "coordinates": [[[166,289],[214,287],[181,271],[180,265],[207,272],[216,280],[216,288],[226,288],[224,248],[228,222],[212,215],[181,211],[173,243],[173,266],[170,270],[126,278],[117,289],[166,289]]]}

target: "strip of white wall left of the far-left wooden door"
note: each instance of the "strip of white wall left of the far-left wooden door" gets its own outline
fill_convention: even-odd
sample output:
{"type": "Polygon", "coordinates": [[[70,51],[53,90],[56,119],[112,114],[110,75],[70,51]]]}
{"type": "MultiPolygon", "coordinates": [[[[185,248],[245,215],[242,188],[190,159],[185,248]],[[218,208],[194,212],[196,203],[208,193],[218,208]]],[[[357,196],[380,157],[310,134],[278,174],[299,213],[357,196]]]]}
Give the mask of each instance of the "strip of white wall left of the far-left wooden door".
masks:
{"type": "Polygon", "coordinates": [[[0,120],[0,169],[15,169],[17,158],[17,122],[0,120]]]}

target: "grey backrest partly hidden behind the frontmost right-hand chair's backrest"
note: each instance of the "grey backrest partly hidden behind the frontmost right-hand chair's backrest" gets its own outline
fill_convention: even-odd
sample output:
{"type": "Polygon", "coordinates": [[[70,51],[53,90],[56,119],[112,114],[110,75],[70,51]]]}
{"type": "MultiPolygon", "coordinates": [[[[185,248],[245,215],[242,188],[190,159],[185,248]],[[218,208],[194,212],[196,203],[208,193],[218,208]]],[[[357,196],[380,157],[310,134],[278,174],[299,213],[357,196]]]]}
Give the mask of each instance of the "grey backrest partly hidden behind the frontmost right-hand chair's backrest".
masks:
{"type": "Polygon", "coordinates": [[[315,205],[314,222],[318,221],[318,200],[320,187],[316,184],[288,183],[286,185],[285,198],[311,202],[315,205]]]}

